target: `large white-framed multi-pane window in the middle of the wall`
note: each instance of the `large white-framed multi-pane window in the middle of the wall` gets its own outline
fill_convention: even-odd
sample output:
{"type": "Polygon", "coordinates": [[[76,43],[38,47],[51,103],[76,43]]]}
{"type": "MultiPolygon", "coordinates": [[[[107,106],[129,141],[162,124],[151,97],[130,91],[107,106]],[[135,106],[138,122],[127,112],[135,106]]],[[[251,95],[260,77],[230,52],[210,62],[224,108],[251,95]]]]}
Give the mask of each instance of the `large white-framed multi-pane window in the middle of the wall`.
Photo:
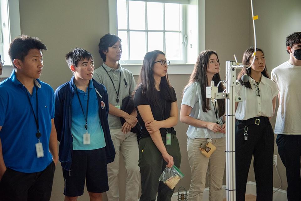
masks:
{"type": "Polygon", "coordinates": [[[141,64],[145,53],[152,50],[164,51],[172,64],[191,63],[192,57],[196,60],[197,0],[108,2],[110,32],[122,39],[121,64],[141,64]]]}

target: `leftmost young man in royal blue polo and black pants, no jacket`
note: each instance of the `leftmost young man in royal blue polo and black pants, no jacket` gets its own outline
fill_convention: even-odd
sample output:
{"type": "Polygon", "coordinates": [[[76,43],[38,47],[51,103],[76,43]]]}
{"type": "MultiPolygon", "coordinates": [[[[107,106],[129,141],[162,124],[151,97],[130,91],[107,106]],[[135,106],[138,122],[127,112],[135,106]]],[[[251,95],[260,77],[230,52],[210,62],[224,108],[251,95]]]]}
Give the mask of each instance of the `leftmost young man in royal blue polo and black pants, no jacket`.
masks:
{"type": "Polygon", "coordinates": [[[26,35],[9,47],[14,70],[0,84],[0,199],[50,200],[58,161],[54,92],[39,77],[46,46],[26,35]]]}

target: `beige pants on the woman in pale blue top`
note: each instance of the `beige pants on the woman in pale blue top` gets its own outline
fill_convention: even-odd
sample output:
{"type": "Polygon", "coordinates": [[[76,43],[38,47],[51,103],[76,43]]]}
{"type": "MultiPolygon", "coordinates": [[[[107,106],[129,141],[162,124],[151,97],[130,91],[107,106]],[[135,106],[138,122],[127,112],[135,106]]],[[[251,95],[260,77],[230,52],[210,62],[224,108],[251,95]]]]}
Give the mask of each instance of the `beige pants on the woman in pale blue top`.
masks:
{"type": "Polygon", "coordinates": [[[206,142],[206,138],[187,139],[187,153],[191,169],[191,182],[188,194],[189,201],[202,201],[208,170],[209,201],[223,200],[223,177],[225,169],[225,138],[212,139],[216,150],[210,156],[205,157],[199,150],[200,144],[206,142]]]}

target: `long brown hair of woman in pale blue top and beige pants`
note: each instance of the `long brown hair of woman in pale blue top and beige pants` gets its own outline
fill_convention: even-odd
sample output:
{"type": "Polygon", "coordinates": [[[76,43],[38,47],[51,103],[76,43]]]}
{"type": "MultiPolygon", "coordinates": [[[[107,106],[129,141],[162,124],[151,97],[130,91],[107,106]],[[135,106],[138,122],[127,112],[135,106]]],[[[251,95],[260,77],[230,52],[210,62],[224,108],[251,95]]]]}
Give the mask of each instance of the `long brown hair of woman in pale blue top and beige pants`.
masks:
{"type": "MultiPolygon", "coordinates": [[[[210,100],[206,98],[206,87],[208,87],[208,78],[207,78],[207,68],[209,65],[209,58],[212,54],[217,56],[217,53],[213,50],[204,50],[198,55],[198,59],[196,64],[194,65],[193,72],[191,73],[188,83],[185,86],[188,87],[193,82],[198,82],[201,86],[201,95],[202,95],[202,109],[203,112],[207,112],[211,110],[210,108],[210,100]]],[[[217,56],[217,58],[219,58],[217,56]]],[[[220,81],[219,73],[216,73],[212,81],[214,81],[214,85],[216,86],[220,81]]],[[[224,86],[222,84],[219,85],[219,92],[223,92],[224,86]]],[[[219,117],[225,114],[225,100],[224,99],[217,99],[217,103],[219,106],[219,117]]]]}

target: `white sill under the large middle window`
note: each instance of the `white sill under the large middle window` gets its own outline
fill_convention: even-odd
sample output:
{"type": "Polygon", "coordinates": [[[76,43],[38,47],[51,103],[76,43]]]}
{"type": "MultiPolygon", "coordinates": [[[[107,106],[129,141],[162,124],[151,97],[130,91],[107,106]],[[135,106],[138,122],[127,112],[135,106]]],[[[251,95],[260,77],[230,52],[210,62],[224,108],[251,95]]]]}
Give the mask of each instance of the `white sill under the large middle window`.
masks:
{"type": "MultiPolygon", "coordinates": [[[[128,69],[133,75],[140,75],[142,64],[121,64],[128,69]]],[[[191,74],[194,64],[171,64],[168,66],[168,75],[191,74]]]]}

